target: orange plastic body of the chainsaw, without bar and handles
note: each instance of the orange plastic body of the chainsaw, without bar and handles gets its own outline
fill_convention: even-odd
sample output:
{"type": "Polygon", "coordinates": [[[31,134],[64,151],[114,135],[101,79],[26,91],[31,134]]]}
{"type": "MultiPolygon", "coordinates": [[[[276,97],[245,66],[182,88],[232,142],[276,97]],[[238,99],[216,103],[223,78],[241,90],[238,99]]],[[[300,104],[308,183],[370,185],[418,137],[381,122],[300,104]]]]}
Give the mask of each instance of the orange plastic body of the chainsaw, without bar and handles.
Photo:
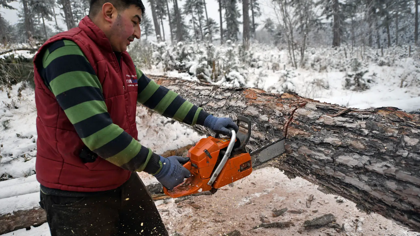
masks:
{"type": "Polygon", "coordinates": [[[191,177],[181,185],[173,188],[173,190],[167,190],[164,187],[163,191],[165,194],[172,198],[179,198],[202,191],[210,191],[251,174],[252,163],[249,153],[244,151],[235,153],[232,151],[231,156],[218,174],[213,185],[207,184],[223,156],[223,149],[226,150],[230,141],[231,139],[228,138],[209,136],[192,146],[187,154],[190,161],[184,164],[184,167],[191,172],[191,177]]]}

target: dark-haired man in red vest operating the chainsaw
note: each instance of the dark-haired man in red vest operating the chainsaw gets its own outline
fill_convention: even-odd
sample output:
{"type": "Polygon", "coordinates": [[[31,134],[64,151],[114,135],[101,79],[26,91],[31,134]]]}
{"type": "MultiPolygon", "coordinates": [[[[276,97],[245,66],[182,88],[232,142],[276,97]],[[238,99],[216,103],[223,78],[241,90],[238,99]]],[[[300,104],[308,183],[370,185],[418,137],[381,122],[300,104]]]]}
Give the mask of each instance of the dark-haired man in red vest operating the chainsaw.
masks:
{"type": "Polygon", "coordinates": [[[135,68],[126,48],[140,38],[143,14],[141,0],[91,0],[79,27],[34,58],[39,203],[52,236],[168,235],[136,172],[173,189],[190,176],[188,159],[137,141],[137,101],[192,126],[238,130],[135,68]]]}

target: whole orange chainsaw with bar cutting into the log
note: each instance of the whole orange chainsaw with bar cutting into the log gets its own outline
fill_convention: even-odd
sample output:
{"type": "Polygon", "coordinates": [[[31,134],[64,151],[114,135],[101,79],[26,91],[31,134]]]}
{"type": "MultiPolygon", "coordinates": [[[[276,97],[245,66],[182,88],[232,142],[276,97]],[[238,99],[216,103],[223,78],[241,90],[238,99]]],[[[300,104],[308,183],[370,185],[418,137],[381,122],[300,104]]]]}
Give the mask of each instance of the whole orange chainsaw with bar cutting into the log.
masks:
{"type": "Polygon", "coordinates": [[[231,129],[230,138],[221,138],[219,133],[215,133],[214,137],[201,139],[192,146],[187,154],[189,161],[184,164],[191,172],[191,177],[173,190],[163,187],[165,195],[179,198],[203,191],[214,194],[220,187],[247,177],[252,168],[283,154],[284,137],[247,152],[245,145],[251,137],[251,121],[238,115],[236,124],[239,131],[236,133],[231,129]],[[247,126],[243,123],[247,123],[247,126]]]}

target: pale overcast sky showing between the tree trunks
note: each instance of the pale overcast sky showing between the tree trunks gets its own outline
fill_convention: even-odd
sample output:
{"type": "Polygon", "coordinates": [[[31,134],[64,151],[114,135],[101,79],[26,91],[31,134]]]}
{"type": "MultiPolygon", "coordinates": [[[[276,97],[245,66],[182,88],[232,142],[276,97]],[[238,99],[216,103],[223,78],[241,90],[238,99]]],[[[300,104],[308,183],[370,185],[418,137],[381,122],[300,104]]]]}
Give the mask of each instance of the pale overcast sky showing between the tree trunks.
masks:
{"type": "MultiPolygon", "coordinates": [[[[172,2],[172,1],[169,1],[172,2]]],[[[238,1],[239,2],[239,1],[238,1]]],[[[261,11],[262,11],[262,16],[260,18],[256,18],[255,21],[257,23],[261,23],[263,20],[265,20],[268,17],[274,18],[274,13],[273,10],[271,10],[272,8],[270,6],[268,6],[267,4],[269,4],[270,0],[260,0],[260,6],[261,6],[261,11]]],[[[218,1],[216,0],[206,0],[207,3],[207,13],[208,13],[208,17],[209,18],[213,18],[217,23],[220,23],[219,21],[219,4],[218,1]]],[[[152,20],[152,10],[150,9],[150,5],[147,2],[147,0],[143,0],[143,4],[146,7],[146,14],[150,17],[150,19],[152,20]]],[[[12,5],[14,8],[20,9],[21,8],[21,4],[19,2],[13,2],[10,5],[12,5]]],[[[169,5],[169,8],[172,7],[173,4],[169,5]]],[[[178,0],[178,5],[184,5],[183,1],[179,1],[178,0]]],[[[238,3],[238,7],[239,7],[239,11],[242,14],[242,4],[239,2],[238,3]]],[[[1,9],[0,10],[3,17],[8,20],[11,24],[15,24],[18,22],[18,11],[17,10],[9,10],[9,9],[1,9]]],[[[56,9],[55,13],[58,13],[58,9],[56,9]]],[[[205,15],[204,15],[205,17],[205,15]]],[[[250,15],[251,17],[251,15],[250,15]]],[[[188,21],[191,17],[187,16],[186,19],[184,19],[184,21],[188,21]]],[[[63,18],[58,15],[57,16],[57,21],[58,21],[58,25],[61,26],[61,28],[63,29],[67,29],[63,18]]],[[[240,21],[242,21],[242,18],[240,19],[240,21]]],[[[251,19],[252,21],[252,19],[251,19]]],[[[165,28],[165,37],[166,40],[170,40],[171,36],[169,34],[169,23],[168,20],[164,20],[163,21],[164,24],[164,28],[165,28]]],[[[48,23],[49,25],[53,25],[55,24],[54,22],[50,22],[48,23]]],[[[226,23],[223,25],[223,28],[226,28],[226,23]]],[[[240,31],[242,31],[242,25],[239,27],[240,31]]],[[[161,29],[162,30],[162,29],[161,29]]]]}

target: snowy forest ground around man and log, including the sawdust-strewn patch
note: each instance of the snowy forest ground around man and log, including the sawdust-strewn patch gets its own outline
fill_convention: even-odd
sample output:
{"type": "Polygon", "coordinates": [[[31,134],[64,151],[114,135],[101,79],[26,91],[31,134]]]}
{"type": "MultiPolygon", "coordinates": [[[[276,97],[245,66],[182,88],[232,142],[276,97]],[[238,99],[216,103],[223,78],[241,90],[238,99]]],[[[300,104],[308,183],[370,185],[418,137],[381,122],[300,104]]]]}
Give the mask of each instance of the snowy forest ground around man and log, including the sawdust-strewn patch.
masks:
{"type": "MultiPolygon", "coordinates": [[[[216,51],[226,52],[227,48],[220,46],[216,51]]],[[[237,49],[234,48],[234,50],[237,49]]],[[[350,56],[349,59],[344,58],[342,52],[314,49],[314,53],[307,56],[307,66],[303,69],[291,67],[286,50],[259,46],[252,49],[251,52],[251,59],[247,59],[248,66],[232,70],[229,73],[231,77],[223,77],[216,83],[232,86],[241,82],[244,86],[259,87],[270,92],[283,92],[287,89],[315,100],[353,108],[394,106],[406,112],[420,109],[420,63],[418,58],[393,54],[391,50],[389,53],[387,52],[388,56],[385,58],[372,55],[372,59],[362,63],[358,69],[359,71],[368,70],[364,79],[372,78],[372,81],[367,83],[370,89],[353,91],[344,89],[344,84],[346,74],[352,71],[349,67],[354,60],[352,61],[350,56]]],[[[199,71],[197,65],[199,63],[201,63],[199,59],[191,59],[193,66],[189,69],[190,73],[164,72],[163,60],[152,64],[152,69],[144,69],[146,67],[143,65],[139,65],[139,67],[146,74],[165,74],[197,80],[196,75],[199,71]]],[[[8,195],[16,195],[16,192],[8,192],[8,186],[16,184],[11,181],[16,180],[8,179],[34,174],[37,111],[34,91],[29,87],[22,87],[21,83],[13,85],[11,90],[3,87],[0,90],[0,101],[0,177],[1,180],[7,180],[0,182],[0,196],[6,198],[8,195]]],[[[136,122],[140,142],[158,154],[192,144],[203,137],[177,121],[174,122],[156,113],[151,113],[144,107],[138,108],[136,122]],[[146,136],[148,138],[144,139],[146,136]]],[[[145,173],[141,173],[141,177],[146,184],[156,181],[145,173]]],[[[33,176],[27,179],[30,178],[33,176]]],[[[29,191],[29,189],[37,187],[36,182],[30,184],[31,181],[24,182],[24,180],[18,180],[23,186],[26,186],[22,188],[29,191]]],[[[311,232],[303,231],[302,235],[418,235],[397,226],[380,215],[366,215],[358,211],[354,203],[347,200],[344,200],[344,203],[337,203],[337,199],[333,195],[324,195],[316,190],[316,187],[300,178],[288,180],[276,169],[264,168],[255,171],[245,180],[235,183],[234,187],[219,190],[214,196],[194,198],[201,210],[192,207],[191,201],[174,203],[171,199],[156,203],[171,233],[183,233],[181,235],[222,235],[222,233],[228,233],[234,229],[241,231],[242,235],[299,235],[299,225],[304,220],[326,213],[333,213],[338,218],[338,223],[346,223],[353,228],[357,224],[361,225],[357,222],[362,221],[361,232],[344,233],[330,229],[324,229],[324,231],[326,230],[324,232],[320,229],[311,232]],[[276,179],[274,180],[274,178],[276,179]],[[311,209],[306,209],[306,212],[297,215],[286,213],[284,217],[280,216],[278,219],[269,217],[273,221],[291,220],[295,223],[294,227],[284,230],[250,229],[260,224],[260,213],[270,215],[270,210],[274,207],[305,209],[304,204],[310,194],[315,195],[315,200],[311,209]],[[319,204],[315,204],[315,202],[319,202],[319,204]],[[318,212],[313,213],[312,210],[318,210],[318,212]],[[203,211],[207,212],[207,215],[202,215],[203,211]],[[237,214],[242,211],[244,214],[237,214]],[[361,220],[362,218],[363,220],[361,220]],[[356,219],[358,220],[356,221],[356,219]],[[190,233],[191,231],[194,233],[190,233]]],[[[20,194],[24,193],[23,191],[20,194]]],[[[19,203],[21,203],[21,207],[24,207],[24,203],[36,205],[38,197],[39,195],[31,195],[31,199],[26,200],[13,197],[7,204],[10,204],[10,208],[16,207],[16,209],[18,209],[19,203]]],[[[5,235],[49,236],[50,234],[48,227],[44,224],[32,228],[30,231],[19,230],[5,235]]]]}

